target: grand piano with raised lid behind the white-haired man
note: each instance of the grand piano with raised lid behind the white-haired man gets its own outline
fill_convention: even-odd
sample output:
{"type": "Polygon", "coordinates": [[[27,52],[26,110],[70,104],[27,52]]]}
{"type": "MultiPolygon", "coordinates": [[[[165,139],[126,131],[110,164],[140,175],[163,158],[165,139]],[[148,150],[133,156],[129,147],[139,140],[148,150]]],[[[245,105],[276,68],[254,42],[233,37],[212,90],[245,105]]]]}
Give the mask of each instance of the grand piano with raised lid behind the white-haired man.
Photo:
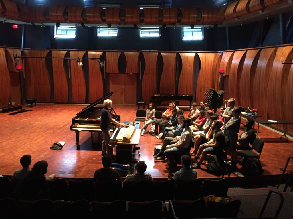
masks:
{"type": "MultiPolygon", "coordinates": [[[[91,105],[88,105],[87,107],[83,108],[79,113],[76,114],[75,117],[71,119],[71,126],[70,130],[75,131],[75,137],[76,137],[76,149],[80,149],[79,145],[79,132],[81,131],[88,131],[91,132],[92,137],[92,143],[93,143],[93,133],[97,132],[100,138],[101,133],[101,113],[104,106],[96,106],[98,104],[103,105],[103,101],[106,99],[109,99],[110,96],[113,95],[114,92],[108,93],[107,95],[103,96],[96,102],[93,102],[91,105]]],[[[110,114],[113,119],[120,122],[120,116],[116,114],[114,109],[112,108],[110,110],[110,114]]],[[[110,131],[114,131],[116,128],[115,124],[111,124],[110,131]]]]}

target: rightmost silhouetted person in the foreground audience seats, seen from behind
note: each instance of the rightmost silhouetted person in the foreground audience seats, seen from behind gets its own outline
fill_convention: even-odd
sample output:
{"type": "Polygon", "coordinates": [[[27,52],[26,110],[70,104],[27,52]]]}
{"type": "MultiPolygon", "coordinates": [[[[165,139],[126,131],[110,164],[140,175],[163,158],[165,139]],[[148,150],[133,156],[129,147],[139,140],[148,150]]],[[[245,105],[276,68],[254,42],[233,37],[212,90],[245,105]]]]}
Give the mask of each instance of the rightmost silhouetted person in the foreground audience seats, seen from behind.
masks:
{"type": "Polygon", "coordinates": [[[187,154],[181,156],[180,163],[182,168],[177,171],[173,177],[175,181],[187,180],[192,181],[197,178],[197,173],[195,169],[190,168],[192,162],[191,157],[187,154]]]}

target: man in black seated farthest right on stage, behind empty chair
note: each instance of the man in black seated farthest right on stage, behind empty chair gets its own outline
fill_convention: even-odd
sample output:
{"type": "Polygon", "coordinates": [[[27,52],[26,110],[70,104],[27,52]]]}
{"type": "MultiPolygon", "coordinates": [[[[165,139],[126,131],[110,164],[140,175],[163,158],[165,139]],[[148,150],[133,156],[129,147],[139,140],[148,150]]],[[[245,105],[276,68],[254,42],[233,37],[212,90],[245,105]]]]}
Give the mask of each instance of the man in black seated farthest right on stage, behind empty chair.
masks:
{"type": "Polygon", "coordinates": [[[256,138],[256,135],[254,133],[254,130],[252,126],[254,125],[254,121],[251,119],[248,119],[244,123],[244,130],[243,132],[239,133],[238,135],[238,142],[236,147],[240,148],[241,150],[243,149],[251,149],[249,144],[253,144],[253,141],[256,138]]]}

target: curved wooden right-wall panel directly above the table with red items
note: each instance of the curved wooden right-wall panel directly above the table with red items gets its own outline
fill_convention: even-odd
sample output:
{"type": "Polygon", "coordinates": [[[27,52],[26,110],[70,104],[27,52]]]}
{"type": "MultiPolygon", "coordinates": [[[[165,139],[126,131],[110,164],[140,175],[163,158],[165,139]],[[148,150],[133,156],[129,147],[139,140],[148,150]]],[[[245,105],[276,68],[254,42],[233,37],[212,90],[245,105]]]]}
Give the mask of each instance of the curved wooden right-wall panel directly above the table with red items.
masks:
{"type": "Polygon", "coordinates": [[[242,107],[253,107],[253,81],[258,57],[259,49],[248,50],[246,52],[241,78],[239,79],[239,98],[237,100],[238,105],[242,107]]]}

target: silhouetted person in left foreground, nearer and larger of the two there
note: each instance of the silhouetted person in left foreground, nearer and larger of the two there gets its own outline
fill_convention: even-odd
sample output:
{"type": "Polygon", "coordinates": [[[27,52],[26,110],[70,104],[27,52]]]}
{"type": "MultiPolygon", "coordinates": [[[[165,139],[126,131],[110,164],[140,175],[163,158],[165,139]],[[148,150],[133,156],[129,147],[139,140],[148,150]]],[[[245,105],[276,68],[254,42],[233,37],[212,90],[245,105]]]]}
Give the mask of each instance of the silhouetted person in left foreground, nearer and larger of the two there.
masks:
{"type": "Polygon", "coordinates": [[[17,184],[10,197],[25,200],[50,199],[51,192],[45,178],[47,168],[47,161],[36,162],[32,170],[17,184]]]}

